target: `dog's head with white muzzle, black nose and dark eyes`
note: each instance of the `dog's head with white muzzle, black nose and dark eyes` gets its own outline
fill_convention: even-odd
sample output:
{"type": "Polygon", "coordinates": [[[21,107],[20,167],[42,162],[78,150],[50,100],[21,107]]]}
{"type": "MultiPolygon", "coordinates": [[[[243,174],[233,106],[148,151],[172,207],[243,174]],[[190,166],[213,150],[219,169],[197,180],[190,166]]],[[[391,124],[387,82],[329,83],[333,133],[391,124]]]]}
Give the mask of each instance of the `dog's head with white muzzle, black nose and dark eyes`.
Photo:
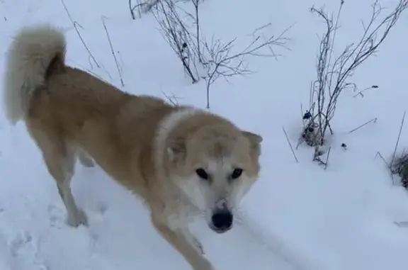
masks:
{"type": "Polygon", "coordinates": [[[215,232],[233,224],[233,210],[259,175],[262,137],[221,122],[201,125],[169,148],[172,178],[215,232]]]}

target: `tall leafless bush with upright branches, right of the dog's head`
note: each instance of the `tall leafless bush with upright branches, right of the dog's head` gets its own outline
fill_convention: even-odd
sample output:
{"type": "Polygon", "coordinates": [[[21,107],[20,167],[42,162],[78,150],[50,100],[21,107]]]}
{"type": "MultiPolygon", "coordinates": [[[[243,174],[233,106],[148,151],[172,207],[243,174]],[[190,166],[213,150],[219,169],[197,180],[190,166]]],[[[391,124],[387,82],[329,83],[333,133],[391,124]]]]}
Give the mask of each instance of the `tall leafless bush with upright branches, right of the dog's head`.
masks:
{"type": "MultiPolygon", "coordinates": [[[[317,55],[317,79],[314,80],[310,89],[310,109],[307,111],[310,116],[304,117],[307,123],[302,133],[307,144],[312,146],[324,145],[327,131],[333,134],[330,122],[334,118],[340,94],[347,89],[357,91],[357,85],[349,79],[368,57],[378,52],[378,48],[397,23],[401,13],[407,9],[408,0],[399,0],[395,9],[385,16],[382,16],[384,9],[380,6],[379,1],[375,0],[371,5],[371,17],[368,23],[363,23],[361,38],[356,43],[346,45],[340,55],[334,57],[336,32],[339,29],[343,5],[344,1],[341,0],[336,18],[327,15],[323,9],[314,7],[310,9],[312,13],[322,18],[325,25],[317,55]],[[313,128],[312,135],[308,131],[310,127],[313,128]]],[[[364,91],[373,88],[378,88],[378,86],[358,91],[355,96],[363,96],[364,91]]]]}

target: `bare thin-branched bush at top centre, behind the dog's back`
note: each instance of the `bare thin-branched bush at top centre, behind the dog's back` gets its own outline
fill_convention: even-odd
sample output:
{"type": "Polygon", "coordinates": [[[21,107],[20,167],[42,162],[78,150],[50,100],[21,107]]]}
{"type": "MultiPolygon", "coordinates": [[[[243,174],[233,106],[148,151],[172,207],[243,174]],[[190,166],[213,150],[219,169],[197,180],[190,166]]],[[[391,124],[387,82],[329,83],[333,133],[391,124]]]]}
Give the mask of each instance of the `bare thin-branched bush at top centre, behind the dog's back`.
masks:
{"type": "Polygon", "coordinates": [[[230,77],[251,74],[248,68],[249,57],[277,57],[278,55],[273,52],[273,46],[285,47],[288,41],[285,33],[288,29],[275,36],[258,34],[271,26],[271,23],[257,28],[251,43],[244,50],[237,52],[234,50],[237,38],[224,43],[213,36],[210,41],[201,37],[200,1],[189,2],[193,5],[191,13],[182,9],[178,2],[173,0],[157,0],[152,13],[159,23],[160,32],[181,60],[183,69],[191,81],[196,83],[200,79],[205,80],[207,108],[210,108],[210,86],[220,78],[228,81],[230,77]]]}

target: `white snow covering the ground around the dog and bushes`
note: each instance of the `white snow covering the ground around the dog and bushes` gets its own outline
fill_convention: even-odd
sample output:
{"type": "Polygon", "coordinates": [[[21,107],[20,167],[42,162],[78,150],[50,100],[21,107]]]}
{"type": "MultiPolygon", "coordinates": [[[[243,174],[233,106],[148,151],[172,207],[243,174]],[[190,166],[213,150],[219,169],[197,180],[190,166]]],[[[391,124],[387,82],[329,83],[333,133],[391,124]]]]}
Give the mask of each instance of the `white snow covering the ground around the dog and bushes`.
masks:
{"type": "MultiPolygon", "coordinates": [[[[381,1],[393,6],[395,0],[381,1]]],[[[53,23],[67,31],[67,62],[88,69],[134,94],[164,94],[204,108],[205,84],[191,84],[152,15],[132,21],[128,1],[65,0],[70,15],[100,67],[89,59],[61,1],[0,0],[0,73],[16,30],[53,23]],[[121,86],[101,18],[106,21],[123,73],[121,86]]],[[[205,0],[203,32],[225,41],[248,35],[266,23],[288,32],[290,50],[278,61],[254,58],[255,74],[219,80],[211,89],[211,110],[263,136],[261,178],[242,203],[239,224],[215,235],[198,220],[193,232],[217,269],[383,270],[407,269],[408,196],[392,185],[384,162],[392,155],[402,113],[407,108],[408,13],[353,76],[362,88],[378,85],[363,98],[345,92],[332,126],[327,169],[312,162],[313,150],[300,146],[295,162],[282,127],[296,145],[302,123],[300,103],[309,101],[315,77],[317,33],[323,25],[311,6],[335,11],[338,0],[205,0]],[[377,118],[353,133],[366,121],[377,118]],[[340,147],[348,145],[347,150],[340,147]]],[[[361,33],[369,1],[346,1],[339,47],[361,33]],[[365,3],[363,3],[365,2],[365,3]]],[[[239,49],[237,49],[239,50],[239,49]]],[[[404,125],[399,147],[408,145],[404,125]]],[[[188,264],[149,223],[145,206],[99,168],[78,167],[73,193],[90,226],[64,223],[65,209],[37,147],[22,123],[11,128],[0,116],[0,269],[188,269],[188,264]],[[98,189],[96,189],[98,187],[98,189]]]]}

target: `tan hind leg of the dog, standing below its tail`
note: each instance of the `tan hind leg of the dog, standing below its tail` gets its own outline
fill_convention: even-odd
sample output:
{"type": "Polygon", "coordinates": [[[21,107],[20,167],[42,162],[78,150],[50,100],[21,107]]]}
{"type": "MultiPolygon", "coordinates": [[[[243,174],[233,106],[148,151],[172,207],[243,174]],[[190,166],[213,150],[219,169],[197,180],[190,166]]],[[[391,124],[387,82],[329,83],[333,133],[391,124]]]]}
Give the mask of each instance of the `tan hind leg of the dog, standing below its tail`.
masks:
{"type": "Polygon", "coordinates": [[[57,182],[57,188],[67,208],[67,223],[72,227],[87,225],[87,218],[83,210],[77,207],[71,191],[71,179],[74,175],[75,152],[56,133],[45,133],[38,129],[29,129],[35,142],[42,152],[47,169],[57,182]]]}

